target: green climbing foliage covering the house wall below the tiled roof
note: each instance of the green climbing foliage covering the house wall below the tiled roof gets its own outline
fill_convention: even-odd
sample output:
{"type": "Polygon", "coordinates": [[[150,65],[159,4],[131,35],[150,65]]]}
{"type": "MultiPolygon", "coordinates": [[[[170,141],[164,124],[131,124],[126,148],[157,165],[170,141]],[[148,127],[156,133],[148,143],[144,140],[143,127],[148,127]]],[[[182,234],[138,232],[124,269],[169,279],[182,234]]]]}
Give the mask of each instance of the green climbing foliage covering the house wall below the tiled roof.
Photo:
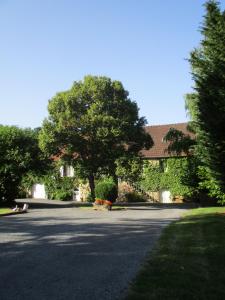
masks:
{"type": "Polygon", "coordinates": [[[168,158],[162,164],[145,162],[141,188],[146,192],[169,189],[173,196],[193,196],[198,187],[194,157],[168,158]]]}

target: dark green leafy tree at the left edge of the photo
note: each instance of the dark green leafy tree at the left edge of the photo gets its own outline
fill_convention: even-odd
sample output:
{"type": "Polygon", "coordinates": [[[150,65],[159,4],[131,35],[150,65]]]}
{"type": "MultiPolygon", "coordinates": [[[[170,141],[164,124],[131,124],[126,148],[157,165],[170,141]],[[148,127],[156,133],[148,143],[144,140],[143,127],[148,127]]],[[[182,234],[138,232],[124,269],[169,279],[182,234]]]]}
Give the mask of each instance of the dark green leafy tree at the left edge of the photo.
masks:
{"type": "Polygon", "coordinates": [[[0,125],[0,202],[18,197],[27,172],[45,172],[49,165],[38,147],[37,130],[0,125]]]}

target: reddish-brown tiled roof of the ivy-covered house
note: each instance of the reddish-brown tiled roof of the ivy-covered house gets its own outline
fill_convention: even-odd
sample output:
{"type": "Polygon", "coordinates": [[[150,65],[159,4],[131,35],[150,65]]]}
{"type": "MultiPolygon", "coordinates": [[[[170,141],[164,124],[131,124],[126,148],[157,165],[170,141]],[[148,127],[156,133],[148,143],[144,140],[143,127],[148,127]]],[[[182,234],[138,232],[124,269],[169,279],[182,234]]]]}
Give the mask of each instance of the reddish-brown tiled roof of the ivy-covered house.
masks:
{"type": "Polygon", "coordinates": [[[163,142],[163,138],[170,128],[175,128],[182,131],[184,134],[192,136],[192,134],[187,130],[187,125],[188,123],[146,126],[145,130],[151,135],[154,145],[149,150],[141,151],[143,157],[152,159],[171,157],[171,155],[167,152],[169,143],[163,142]]]}

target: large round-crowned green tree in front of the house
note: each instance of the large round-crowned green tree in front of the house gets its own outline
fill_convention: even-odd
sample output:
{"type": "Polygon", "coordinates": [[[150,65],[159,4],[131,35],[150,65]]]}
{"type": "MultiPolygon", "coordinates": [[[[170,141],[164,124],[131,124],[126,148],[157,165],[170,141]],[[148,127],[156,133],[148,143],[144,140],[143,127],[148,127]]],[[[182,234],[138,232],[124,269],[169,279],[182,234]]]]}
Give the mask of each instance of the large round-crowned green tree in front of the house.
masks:
{"type": "Polygon", "coordinates": [[[48,105],[40,146],[49,155],[72,162],[89,180],[95,197],[97,173],[116,175],[116,160],[138,154],[153,142],[144,131],[136,102],[119,81],[86,76],[68,91],[57,93],[48,105]]]}

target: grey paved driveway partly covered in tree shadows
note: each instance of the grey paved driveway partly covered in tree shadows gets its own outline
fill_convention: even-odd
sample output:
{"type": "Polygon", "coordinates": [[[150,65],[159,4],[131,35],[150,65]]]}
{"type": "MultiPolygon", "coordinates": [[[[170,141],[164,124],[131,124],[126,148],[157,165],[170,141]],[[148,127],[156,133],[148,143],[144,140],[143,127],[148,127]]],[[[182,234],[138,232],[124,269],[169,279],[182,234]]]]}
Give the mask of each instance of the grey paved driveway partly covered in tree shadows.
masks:
{"type": "Polygon", "coordinates": [[[162,228],[183,212],[74,207],[2,217],[0,299],[122,299],[162,228]]]}

